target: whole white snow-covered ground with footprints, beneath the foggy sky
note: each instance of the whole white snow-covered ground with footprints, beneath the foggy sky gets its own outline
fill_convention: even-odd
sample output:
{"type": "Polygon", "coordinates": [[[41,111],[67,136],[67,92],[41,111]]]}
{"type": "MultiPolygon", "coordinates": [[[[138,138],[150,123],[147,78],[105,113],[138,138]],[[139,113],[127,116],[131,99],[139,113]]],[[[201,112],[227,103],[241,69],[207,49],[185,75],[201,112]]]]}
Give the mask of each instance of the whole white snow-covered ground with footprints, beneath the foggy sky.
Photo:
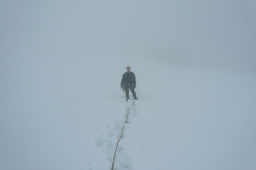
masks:
{"type": "Polygon", "coordinates": [[[2,170],[110,170],[123,127],[115,170],[256,167],[255,73],[143,57],[5,62],[2,170]],[[139,100],[126,102],[128,64],[139,100]]]}

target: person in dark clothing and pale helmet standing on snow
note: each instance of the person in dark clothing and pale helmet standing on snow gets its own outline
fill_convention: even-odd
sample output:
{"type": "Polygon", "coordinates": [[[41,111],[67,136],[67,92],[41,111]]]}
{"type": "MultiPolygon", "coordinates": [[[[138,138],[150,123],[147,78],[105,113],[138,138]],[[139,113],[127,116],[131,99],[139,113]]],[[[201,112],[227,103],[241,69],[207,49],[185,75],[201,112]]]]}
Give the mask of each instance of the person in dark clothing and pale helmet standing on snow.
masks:
{"type": "Polygon", "coordinates": [[[136,96],[136,92],[134,88],[136,88],[136,77],[133,72],[131,72],[131,67],[126,66],[127,72],[123,74],[122,80],[121,80],[121,88],[124,88],[125,90],[125,96],[126,96],[126,101],[128,101],[129,98],[129,88],[132,92],[132,96],[134,97],[134,100],[138,100],[136,96]]]}

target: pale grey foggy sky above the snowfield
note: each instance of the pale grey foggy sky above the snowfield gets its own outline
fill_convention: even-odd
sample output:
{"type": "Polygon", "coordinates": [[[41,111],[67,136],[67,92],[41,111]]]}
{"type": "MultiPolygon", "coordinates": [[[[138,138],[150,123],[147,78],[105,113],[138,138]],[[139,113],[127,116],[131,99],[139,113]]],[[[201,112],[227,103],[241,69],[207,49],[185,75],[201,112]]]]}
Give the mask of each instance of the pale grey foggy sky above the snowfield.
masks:
{"type": "Polygon", "coordinates": [[[1,60],[139,56],[256,72],[255,9],[254,0],[1,0],[1,60]]]}

